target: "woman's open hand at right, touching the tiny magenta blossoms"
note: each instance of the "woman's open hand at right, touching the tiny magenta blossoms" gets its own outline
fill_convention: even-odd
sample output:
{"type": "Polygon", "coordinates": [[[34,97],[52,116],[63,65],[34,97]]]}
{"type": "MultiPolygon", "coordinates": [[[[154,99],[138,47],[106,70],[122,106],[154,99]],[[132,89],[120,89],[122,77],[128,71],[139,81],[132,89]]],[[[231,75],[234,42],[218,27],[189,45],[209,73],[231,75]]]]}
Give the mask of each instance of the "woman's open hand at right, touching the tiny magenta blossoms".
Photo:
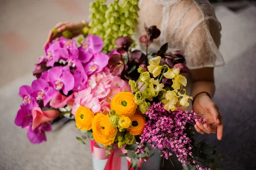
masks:
{"type": "Polygon", "coordinates": [[[199,113],[202,119],[206,119],[207,123],[203,124],[199,121],[195,124],[195,130],[198,133],[216,133],[218,140],[223,135],[223,119],[218,106],[212,101],[206,93],[199,94],[194,101],[193,110],[199,113]],[[214,124],[215,125],[212,125],[214,124]]]}

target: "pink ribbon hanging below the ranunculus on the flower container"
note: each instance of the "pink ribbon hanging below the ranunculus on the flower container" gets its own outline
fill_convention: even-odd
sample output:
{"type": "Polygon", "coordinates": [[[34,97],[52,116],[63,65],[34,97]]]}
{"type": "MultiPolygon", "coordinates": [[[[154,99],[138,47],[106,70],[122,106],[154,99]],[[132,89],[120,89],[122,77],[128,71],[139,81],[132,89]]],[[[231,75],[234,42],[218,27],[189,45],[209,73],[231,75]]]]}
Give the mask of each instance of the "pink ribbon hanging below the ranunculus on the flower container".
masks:
{"type": "MultiPolygon", "coordinates": [[[[104,170],[120,170],[121,169],[121,160],[123,153],[126,153],[125,146],[122,148],[116,147],[116,149],[111,150],[111,154],[106,156],[106,149],[99,147],[96,144],[96,141],[90,141],[91,153],[93,153],[94,157],[99,160],[108,159],[107,164],[105,165],[104,170]]],[[[126,157],[128,162],[128,167],[131,164],[131,158],[126,157]]],[[[141,167],[142,162],[138,161],[139,167],[141,167]]],[[[128,169],[128,168],[127,168],[128,169]]],[[[131,168],[133,170],[133,168],[131,168]]],[[[140,170],[140,168],[138,168],[140,170]]]]}

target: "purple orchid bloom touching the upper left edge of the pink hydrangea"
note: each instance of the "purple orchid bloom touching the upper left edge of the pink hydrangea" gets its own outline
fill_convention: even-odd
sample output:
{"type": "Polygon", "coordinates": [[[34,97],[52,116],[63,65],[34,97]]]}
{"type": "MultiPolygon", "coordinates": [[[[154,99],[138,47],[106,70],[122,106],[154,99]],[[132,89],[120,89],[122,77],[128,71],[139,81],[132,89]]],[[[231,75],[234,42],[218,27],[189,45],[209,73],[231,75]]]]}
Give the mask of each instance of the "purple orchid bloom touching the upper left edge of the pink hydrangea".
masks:
{"type": "Polygon", "coordinates": [[[82,69],[82,70],[76,69],[73,72],[73,76],[74,76],[74,79],[75,79],[73,90],[74,91],[81,91],[81,90],[85,89],[88,77],[85,74],[84,69],[82,69]]]}

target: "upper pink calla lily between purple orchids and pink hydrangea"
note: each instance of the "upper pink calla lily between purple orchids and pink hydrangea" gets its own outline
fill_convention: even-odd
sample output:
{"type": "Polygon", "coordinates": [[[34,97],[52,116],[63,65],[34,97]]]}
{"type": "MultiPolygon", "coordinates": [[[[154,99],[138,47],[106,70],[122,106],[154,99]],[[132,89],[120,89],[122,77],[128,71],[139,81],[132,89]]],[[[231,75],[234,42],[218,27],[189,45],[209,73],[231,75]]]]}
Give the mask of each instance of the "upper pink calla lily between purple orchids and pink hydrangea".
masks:
{"type": "Polygon", "coordinates": [[[50,101],[50,106],[55,109],[64,107],[65,105],[69,104],[70,101],[72,101],[72,98],[73,94],[66,97],[64,95],[61,95],[60,92],[58,92],[57,95],[50,101]]]}

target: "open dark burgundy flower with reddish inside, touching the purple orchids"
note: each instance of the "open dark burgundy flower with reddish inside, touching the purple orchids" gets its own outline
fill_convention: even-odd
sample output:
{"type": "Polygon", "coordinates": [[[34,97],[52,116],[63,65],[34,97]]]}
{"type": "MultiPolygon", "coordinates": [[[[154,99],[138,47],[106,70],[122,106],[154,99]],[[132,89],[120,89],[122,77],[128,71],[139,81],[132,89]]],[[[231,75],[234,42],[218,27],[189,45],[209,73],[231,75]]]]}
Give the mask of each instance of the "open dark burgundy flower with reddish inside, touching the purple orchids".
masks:
{"type": "Polygon", "coordinates": [[[108,65],[112,75],[121,75],[125,67],[125,61],[120,55],[113,54],[108,60],[108,65]]]}

